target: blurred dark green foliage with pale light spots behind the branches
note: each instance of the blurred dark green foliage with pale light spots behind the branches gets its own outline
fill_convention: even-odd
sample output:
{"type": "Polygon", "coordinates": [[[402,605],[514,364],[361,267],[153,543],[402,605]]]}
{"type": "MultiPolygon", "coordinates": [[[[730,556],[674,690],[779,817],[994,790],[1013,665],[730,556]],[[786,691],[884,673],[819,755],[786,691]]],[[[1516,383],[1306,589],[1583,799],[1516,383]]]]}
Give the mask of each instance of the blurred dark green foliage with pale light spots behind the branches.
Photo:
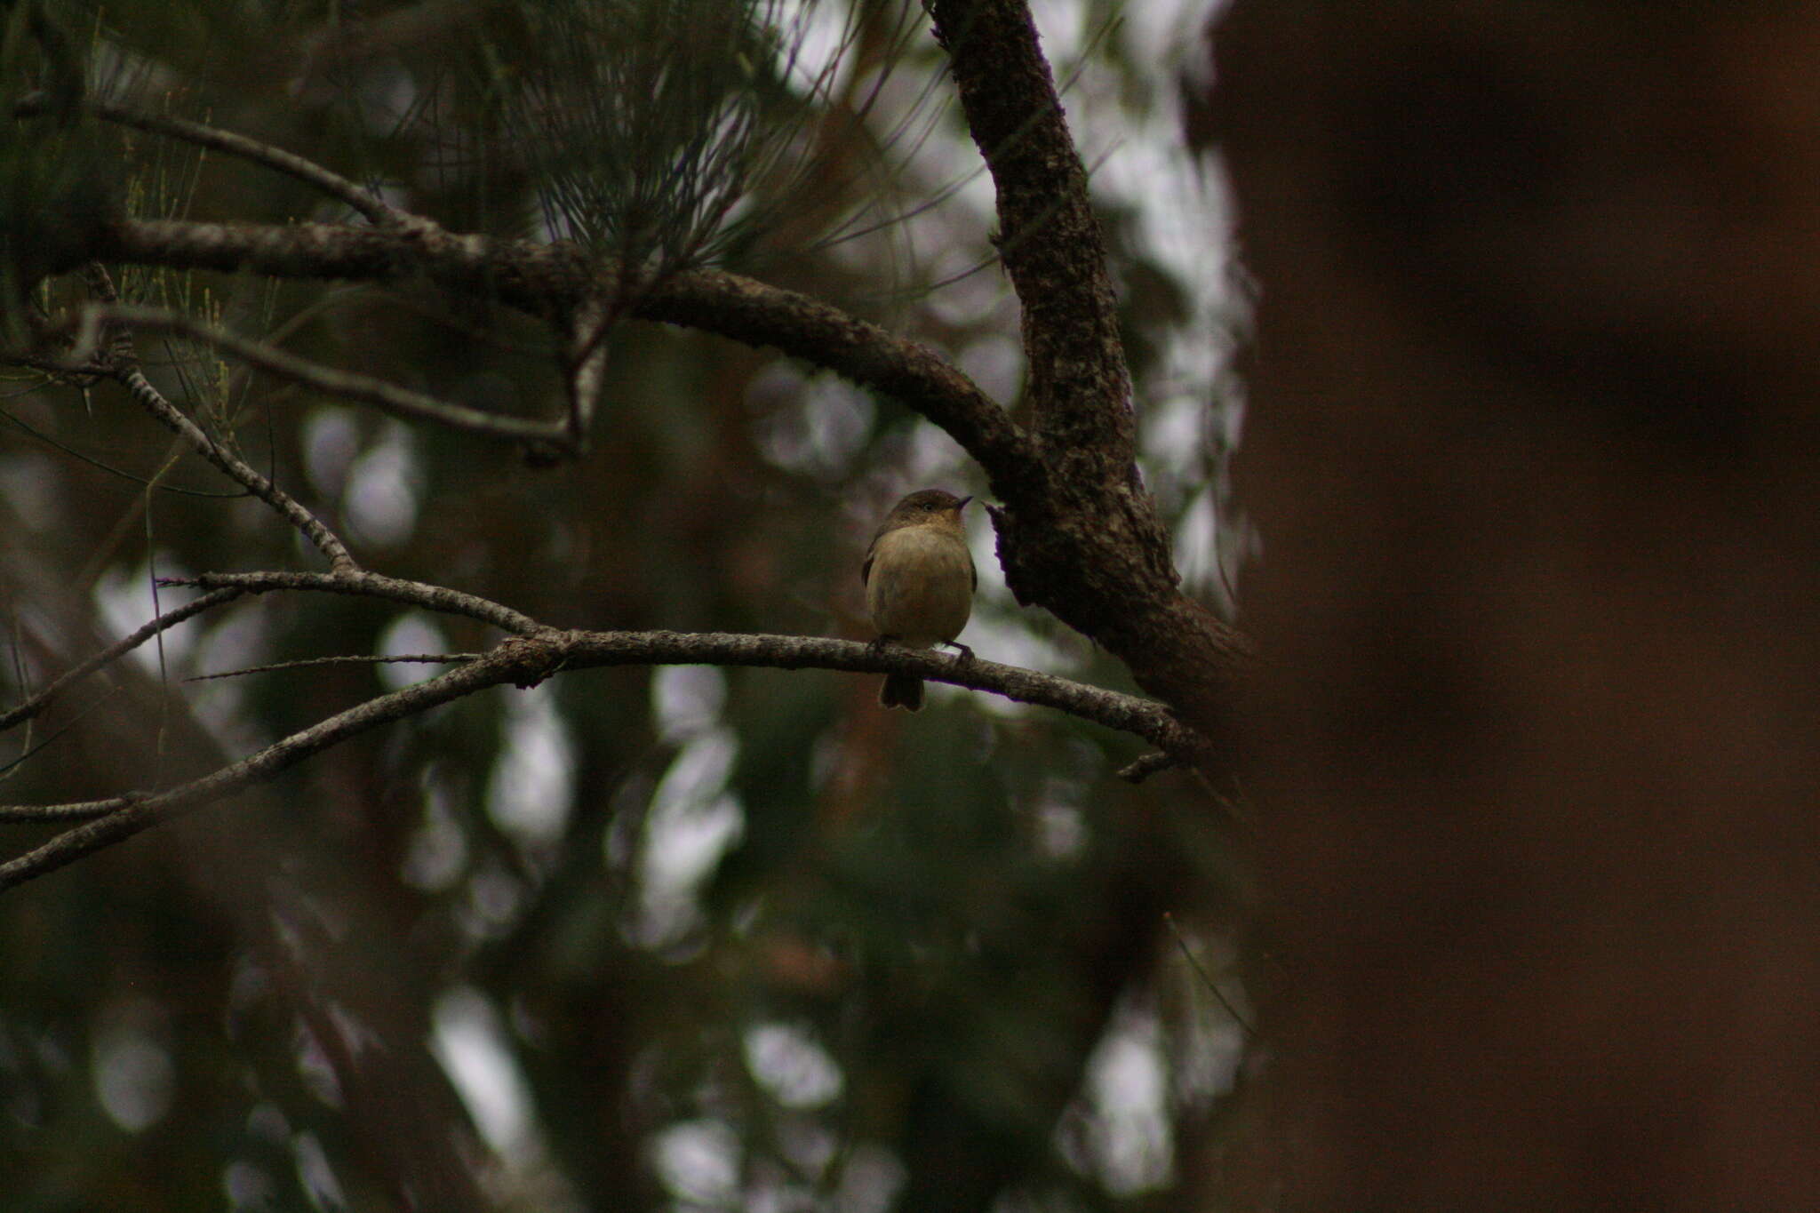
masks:
{"type": "MultiPolygon", "coordinates": [[[[49,11],[107,96],[318,158],[457,231],[668,256],[650,196],[612,195],[606,218],[584,206],[677,138],[659,124],[657,153],[608,147],[662,115],[581,113],[564,91],[612,55],[650,67],[635,38],[592,51],[604,44],[550,36],[588,7],[49,11]],[[502,107],[515,89],[535,104],[502,107]]],[[[593,7],[655,20],[653,40],[668,29],[662,5],[593,7]]],[[[990,182],[921,13],[759,7],[790,31],[772,65],[794,56],[792,71],[744,67],[783,136],[726,215],[688,227],[713,236],[688,253],[928,342],[1017,413],[990,182]]],[[[1121,287],[1145,476],[1179,567],[1230,615],[1254,547],[1225,475],[1243,293],[1223,193],[1183,135],[1185,96],[1208,78],[1208,13],[1037,7],[1121,287]]],[[[55,84],[18,29],[7,45],[9,96],[55,84]]],[[[80,138],[93,176],[13,144],[15,216],[46,189],[95,187],[149,216],[344,218],[246,162],[118,127],[80,138]]],[[[551,335],[504,307],[408,282],[118,280],[442,398],[561,407],[551,335]]],[[[857,566],[888,504],[983,486],[892,400],[652,324],[615,326],[593,449],[557,467],[248,375],[195,342],[142,338],[140,353],[368,567],[562,627],[866,637],[857,566]]],[[[318,567],[116,389],[11,371],[0,395],[7,700],[182,598],[155,576],[318,567]]],[[[1010,600],[990,527],[972,526],[965,638],[1130,689],[1010,600]]],[[[435,667],[197,675],[486,642],[371,600],[246,600],[15,733],[0,800],[167,786],[435,667]]],[[[874,695],[872,678],[823,671],[564,673],[369,733],[7,893],[0,1204],[1219,1208],[1208,1177],[1249,1055],[1223,1006],[1249,1011],[1243,831],[1187,773],[1110,778],[1139,753],[1132,738],[939,687],[914,718],[874,695]]],[[[9,824],[0,846],[47,835],[9,824]]]]}

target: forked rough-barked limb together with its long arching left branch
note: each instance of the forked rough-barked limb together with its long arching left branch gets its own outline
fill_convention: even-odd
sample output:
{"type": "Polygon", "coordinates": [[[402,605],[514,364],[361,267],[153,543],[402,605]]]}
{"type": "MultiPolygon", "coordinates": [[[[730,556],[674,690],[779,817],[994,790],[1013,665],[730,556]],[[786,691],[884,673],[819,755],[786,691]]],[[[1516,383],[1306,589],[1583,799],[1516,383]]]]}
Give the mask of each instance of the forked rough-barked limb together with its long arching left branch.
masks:
{"type": "MultiPolygon", "coordinates": [[[[1005,502],[994,522],[1019,602],[1048,607],[1119,657],[1147,691],[1218,729],[1245,644],[1181,593],[1168,535],[1138,478],[1105,246],[1028,9],[1021,0],[928,7],[999,193],[1001,249],[1032,366],[1034,435],[926,347],[723,271],[637,282],[570,242],[331,224],[118,220],[95,233],[91,255],[291,278],[422,276],[521,307],[559,333],[582,300],[610,291],[630,302],[630,315],[775,346],[834,369],[917,409],[986,469],[1005,502]]],[[[537,426],[524,436],[546,435],[537,426]]]]}

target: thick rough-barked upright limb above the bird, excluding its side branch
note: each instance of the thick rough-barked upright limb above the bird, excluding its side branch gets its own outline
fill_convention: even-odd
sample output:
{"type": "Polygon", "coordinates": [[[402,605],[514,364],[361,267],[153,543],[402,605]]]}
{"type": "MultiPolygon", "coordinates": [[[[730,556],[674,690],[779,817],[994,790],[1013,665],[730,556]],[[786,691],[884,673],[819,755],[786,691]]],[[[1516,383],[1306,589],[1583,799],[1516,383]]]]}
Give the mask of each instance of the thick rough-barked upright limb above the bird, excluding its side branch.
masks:
{"type": "Polygon", "coordinates": [[[1046,475],[992,509],[1005,582],[1092,637],[1138,684],[1219,735],[1243,638],[1181,593],[1136,466],[1130,373],[1105,242],[1023,0],[930,0],[968,129],[997,187],[999,249],[1023,307],[1046,475]]]}

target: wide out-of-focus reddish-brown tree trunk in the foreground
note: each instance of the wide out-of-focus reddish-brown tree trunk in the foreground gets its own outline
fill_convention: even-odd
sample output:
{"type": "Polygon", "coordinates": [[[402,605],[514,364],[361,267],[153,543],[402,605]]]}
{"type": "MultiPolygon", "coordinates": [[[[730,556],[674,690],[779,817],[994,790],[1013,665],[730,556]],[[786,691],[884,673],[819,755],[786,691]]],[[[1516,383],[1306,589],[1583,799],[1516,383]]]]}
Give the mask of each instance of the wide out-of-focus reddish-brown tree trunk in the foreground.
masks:
{"type": "Polygon", "coordinates": [[[1820,5],[1238,0],[1214,45],[1249,1208],[1820,1209],[1820,5]]]}

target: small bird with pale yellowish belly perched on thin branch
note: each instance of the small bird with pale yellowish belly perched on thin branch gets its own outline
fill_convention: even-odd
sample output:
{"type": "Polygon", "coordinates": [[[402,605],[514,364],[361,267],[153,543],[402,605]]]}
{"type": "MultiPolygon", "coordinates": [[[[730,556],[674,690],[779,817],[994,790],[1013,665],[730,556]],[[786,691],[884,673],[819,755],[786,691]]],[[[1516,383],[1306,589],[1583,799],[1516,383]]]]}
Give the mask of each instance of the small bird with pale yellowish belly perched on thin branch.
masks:
{"type": "MultiPolygon", "coordinates": [[[[866,611],[879,638],[914,649],[954,644],[966,660],[974,651],[954,638],[974,611],[979,573],[966,551],[961,507],[972,496],[923,489],[892,506],[872,536],[859,580],[866,584],[866,611]]],[[[879,702],[886,707],[923,711],[923,680],[885,675],[879,702]]]]}

